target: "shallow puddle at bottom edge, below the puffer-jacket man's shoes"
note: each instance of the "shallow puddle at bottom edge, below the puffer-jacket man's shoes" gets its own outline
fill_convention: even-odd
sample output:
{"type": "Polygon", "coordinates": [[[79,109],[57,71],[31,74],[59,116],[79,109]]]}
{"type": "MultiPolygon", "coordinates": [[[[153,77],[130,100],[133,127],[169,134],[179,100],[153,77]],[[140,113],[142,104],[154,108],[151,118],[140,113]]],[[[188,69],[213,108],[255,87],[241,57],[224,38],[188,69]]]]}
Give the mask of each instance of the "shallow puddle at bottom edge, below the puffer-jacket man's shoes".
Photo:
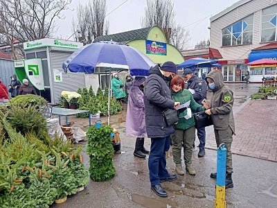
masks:
{"type": "Polygon", "coordinates": [[[159,200],[156,200],[154,198],[148,198],[145,196],[141,196],[136,193],[127,193],[129,200],[132,200],[133,202],[142,205],[143,207],[147,208],[176,208],[178,205],[172,205],[172,202],[170,202],[170,205],[168,205],[166,202],[161,202],[159,200]]]}

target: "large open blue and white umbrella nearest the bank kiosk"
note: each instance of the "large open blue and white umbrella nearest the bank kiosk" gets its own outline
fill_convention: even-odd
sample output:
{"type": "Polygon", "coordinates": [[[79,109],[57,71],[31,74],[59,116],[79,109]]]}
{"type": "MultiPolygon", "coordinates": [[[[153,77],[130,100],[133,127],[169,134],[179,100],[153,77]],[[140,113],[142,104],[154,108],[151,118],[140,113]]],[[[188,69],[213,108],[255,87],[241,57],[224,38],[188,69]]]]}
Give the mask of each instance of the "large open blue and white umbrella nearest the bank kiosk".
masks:
{"type": "Polygon", "coordinates": [[[132,76],[148,76],[154,62],[132,46],[117,42],[87,44],[72,53],[62,64],[64,71],[94,73],[96,67],[129,69],[132,76]]]}

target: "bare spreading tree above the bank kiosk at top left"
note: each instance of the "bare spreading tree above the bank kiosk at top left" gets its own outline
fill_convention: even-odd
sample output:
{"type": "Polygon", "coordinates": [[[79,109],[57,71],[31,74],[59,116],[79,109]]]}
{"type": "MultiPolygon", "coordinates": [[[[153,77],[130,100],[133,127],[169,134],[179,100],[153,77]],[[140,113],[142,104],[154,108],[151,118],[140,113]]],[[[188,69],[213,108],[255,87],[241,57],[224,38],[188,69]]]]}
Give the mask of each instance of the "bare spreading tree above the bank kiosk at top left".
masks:
{"type": "Polygon", "coordinates": [[[15,40],[51,37],[55,20],[63,18],[61,12],[69,3],[71,0],[0,0],[0,35],[6,37],[1,42],[11,45],[15,40]]]}

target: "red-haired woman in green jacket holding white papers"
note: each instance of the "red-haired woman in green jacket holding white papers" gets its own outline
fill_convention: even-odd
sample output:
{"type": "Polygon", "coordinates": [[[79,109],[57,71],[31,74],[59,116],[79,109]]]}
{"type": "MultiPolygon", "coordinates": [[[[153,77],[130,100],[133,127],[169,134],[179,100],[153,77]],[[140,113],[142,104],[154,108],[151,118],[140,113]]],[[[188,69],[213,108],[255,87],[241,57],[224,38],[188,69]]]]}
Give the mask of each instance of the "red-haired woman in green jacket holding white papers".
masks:
{"type": "Polygon", "coordinates": [[[180,102],[181,105],[189,102],[188,107],[179,110],[179,122],[175,124],[175,133],[172,137],[172,155],[176,164],[176,172],[179,175],[184,175],[181,166],[181,145],[184,143],[184,161],[186,171],[190,175],[195,175],[196,171],[192,166],[193,144],[195,141],[195,119],[193,112],[204,111],[204,107],[199,105],[193,99],[193,95],[184,89],[184,79],[181,76],[175,76],[170,83],[171,95],[175,102],[180,102]]]}

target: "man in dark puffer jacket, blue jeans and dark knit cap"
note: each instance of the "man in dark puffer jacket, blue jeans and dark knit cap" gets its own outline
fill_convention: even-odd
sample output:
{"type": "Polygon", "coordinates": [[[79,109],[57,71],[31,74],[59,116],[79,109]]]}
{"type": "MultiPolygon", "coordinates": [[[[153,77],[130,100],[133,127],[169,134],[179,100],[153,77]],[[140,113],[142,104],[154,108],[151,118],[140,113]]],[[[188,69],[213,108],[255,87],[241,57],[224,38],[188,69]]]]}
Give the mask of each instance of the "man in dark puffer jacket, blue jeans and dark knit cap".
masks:
{"type": "Polygon", "coordinates": [[[163,117],[163,110],[173,109],[179,102],[172,101],[168,83],[177,73],[173,62],[165,62],[149,71],[145,80],[145,123],[146,132],[151,138],[151,150],[148,159],[151,189],[161,197],[168,193],[161,187],[160,182],[174,181],[176,175],[170,175],[166,169],[166,151],[170,148],[170,135],[174,132],[173,126],[167,126],[163,117]]]}

